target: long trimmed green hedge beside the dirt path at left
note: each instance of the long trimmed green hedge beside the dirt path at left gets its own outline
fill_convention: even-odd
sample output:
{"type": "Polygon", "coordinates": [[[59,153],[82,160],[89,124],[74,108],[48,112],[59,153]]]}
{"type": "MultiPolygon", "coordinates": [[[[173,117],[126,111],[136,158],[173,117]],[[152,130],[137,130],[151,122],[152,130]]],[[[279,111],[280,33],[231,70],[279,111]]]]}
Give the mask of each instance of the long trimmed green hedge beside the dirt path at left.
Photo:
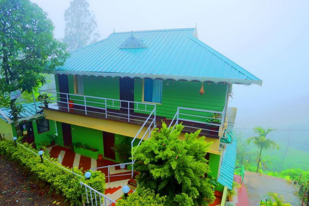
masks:
{"type": "MultiPolygon", "coordinates": [[[[32,149],[27,143],[24,143],[23,145],[35,153],[38,152],[37,150],[32,149]]],[[[57,194],[61,193],[65,196],[66,199],[70,201],[71,205],[82,205],[81,194],[86,198],[85,188],[80,185],[79,181],[82,181],[104,194],[105,175],[100,171],[92,171],[91,178],[86,180],[85,178],[61,169],[59,167],[61,164],[57,163],[56,159],[49,158],[48,153],[44,153],[43,156],[54,162],[56,165],[46,160],[44,160],[44,163],[42,164],[38,155],[35,155],[20,145],[17,145],[17,148],[15,148],[14,142],[12,141],[0,141],[0,154],[5,155],[9,160],[18,162],[25,170],[31,172],[31,174],[37,179],[49,183],[51,189],[55,190],[57,194]]],[[[67,169],[70,170],[70,168],[67,169]]],[[[76,167],[74,168],[74,172],[83,176],[82,170],[78,170],[76,167]]],[[[89,194],[88,197],[90,197],[89,194]]]]}

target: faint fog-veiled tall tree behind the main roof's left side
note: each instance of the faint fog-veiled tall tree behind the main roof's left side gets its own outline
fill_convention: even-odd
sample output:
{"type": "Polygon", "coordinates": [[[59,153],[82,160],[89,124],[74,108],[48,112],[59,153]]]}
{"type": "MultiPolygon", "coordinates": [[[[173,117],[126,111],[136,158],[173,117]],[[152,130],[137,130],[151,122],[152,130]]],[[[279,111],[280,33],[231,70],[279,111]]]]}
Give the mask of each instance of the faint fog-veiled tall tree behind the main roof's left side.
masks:
{"type": "Polygon", "coordinates": [[[96,42],[100,35],[95,32],[97,22],[93,11],[89,11],[86,0],[72,0],[64,12],[65,36],[62,39],[73,51],[89,43],[96,42]]]}

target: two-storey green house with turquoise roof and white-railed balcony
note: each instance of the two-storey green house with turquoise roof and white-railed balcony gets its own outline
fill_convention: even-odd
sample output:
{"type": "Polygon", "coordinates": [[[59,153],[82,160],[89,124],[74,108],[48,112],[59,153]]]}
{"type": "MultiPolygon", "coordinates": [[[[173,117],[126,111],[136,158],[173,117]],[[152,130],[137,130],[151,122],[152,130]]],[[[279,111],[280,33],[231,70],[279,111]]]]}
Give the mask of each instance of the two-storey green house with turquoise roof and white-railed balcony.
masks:
{"type": "Polygon", "coordinates": [[[133,147],[162,120],[182,122],[184,132],[201,129],[213,142],[206,158],[220,178],[232,85],[261,85],[259,78],[199,40],[196,28],[113,32],[70,54],[55,71],[56,88],[40,91],[51,99],[44,116],[57,123],[58,145],[119,162],[113,145],[133,147]]]}

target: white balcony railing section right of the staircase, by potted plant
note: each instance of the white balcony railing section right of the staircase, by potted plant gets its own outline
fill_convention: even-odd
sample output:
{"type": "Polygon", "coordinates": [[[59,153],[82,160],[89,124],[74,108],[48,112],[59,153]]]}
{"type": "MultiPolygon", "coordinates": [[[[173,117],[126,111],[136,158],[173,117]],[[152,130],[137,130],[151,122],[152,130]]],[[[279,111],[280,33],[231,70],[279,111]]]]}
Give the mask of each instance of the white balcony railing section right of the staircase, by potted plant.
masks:
{"type": "Polygon", "coordinates": [[[183,123],[183,126],[186,128],[202,129],[210,132],[214,132],[219,136],[220,129],[222,128],[225,120],[225,107],[223,111],[211,111],[211,110],[202,110],[202,109],[193,109],[178,107],[177,112],[174,118],[171,120],[168,128],[170,128],[175,122],[173,129],[180,121],[197,123],[196,126],[191,126],[189,124],[183,123]],[[214,114],[218,114],[217,117],[214,117],[214,114]],[[216,121],[217,123],[215,123],[216,121]]]}

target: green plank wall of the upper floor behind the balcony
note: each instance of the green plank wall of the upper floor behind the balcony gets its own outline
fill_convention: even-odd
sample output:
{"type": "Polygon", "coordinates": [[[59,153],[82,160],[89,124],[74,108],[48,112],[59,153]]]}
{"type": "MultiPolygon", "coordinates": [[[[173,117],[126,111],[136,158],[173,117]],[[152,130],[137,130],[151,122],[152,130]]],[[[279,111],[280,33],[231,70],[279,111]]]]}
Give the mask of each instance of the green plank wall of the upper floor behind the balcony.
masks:
{"type": "MultiPolygon", "coordinates": [[[[58,88],[58,77],[56,78],[56,87],[58,88]]],[[[74,76],[68,75],[69,80],[69,92],[74,94],[74,76]]],[[[134,101],[142,102],[142,79],[134,79],[134,101]]],[[[94,76],[83,76],[84,81],[84,95],[103,97],[109,99],[119,99],[119,78],[111,77],[94,77],[94,76]]],[[[147,81],[147,80],[146,80],[147,81]]],[[[157,104],[157,116],[167,117],[172,119],[177,111],[177,107],[187,107],[194,109],[203,109],[211,111],[223,111],[226,102],[226,91],[228,84],[215,84],[215,83],[204,83],[205,93],[201,95],[199,90],[201,89],[201,82],[188,82],[188,81],[173,81],[164,80],[162,89],[162,104],[157,104]]],[[[74,103],[81,103],[83,97],[71,95],[70,99],[74,99],[74,103]]],[[[86,98],[87,101],[98,101],[93,98],[86,98]]],[[[102,104],[87,103],[90,106],[104,107],[104,101],[100,101],[102,104]]],[[[111,101],[108,100],[108,105],[111,105],[111,101]]],[[[116,104],[119,106],[119,104],[116,104]]],[[[135,109],[137,105],[134,105],[135,109]]],[[[114,108],[116,107],[108,107],[114,108]]],[[[138,106],[139,109],[144,110],[145,107],[142,105],[138,106]]],[[[153,106],[147,106],[147,111],[152,111],[153,106]]],[[[138,111],[145,113],[142,111],[138,111]]],[[[188,111],[186,111],[188,112],[188,111]]],[[[149,114],[149,112],[146,112],[149,114]]],[[[189,112],[190,114],[198,114],[202,116],[210,116],[210,113],[201,112],[189,112]]],[[[199,118],[192,118],[189,116],[183,116],[185,119],[200,120],[199,118]]]]}

